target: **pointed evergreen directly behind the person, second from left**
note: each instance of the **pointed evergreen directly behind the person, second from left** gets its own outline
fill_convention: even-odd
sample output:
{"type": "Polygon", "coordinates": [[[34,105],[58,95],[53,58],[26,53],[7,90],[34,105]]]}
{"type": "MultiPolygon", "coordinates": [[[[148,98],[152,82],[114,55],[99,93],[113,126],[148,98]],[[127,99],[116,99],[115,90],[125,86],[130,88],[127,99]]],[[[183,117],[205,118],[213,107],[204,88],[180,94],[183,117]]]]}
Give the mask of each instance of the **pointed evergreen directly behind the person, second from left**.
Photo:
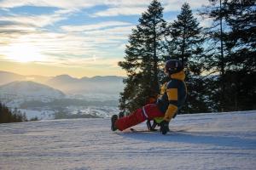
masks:
{"type": "Polygon", "coordinates": [[[205,83],[202,80],[205,40],[202,27],[192,14],[189,3],[184,3],[181,13],[168,26],[167,52],[171,59],[180,59],[186,70],[188,98],[185,113],[208,111],[205,83]]]}

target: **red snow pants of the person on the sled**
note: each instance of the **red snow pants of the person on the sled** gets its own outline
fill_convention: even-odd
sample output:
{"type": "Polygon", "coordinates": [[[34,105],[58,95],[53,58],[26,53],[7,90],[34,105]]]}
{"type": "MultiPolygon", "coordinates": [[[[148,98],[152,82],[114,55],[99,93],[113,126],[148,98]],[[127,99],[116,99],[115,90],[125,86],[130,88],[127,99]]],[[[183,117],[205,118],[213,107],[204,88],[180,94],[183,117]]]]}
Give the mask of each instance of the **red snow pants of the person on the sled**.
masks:
{"type": "Polygon", "coordinates": [[[143,108],[137,109],[132,112],[129,116],[124,116],[119,118],[114,126],[117,127],[120,131],[125,130],[128,127],[137,125],[140,122],[144,122],[149,119],[152,120],[154,117],[165,116],[162,113],[156,104],[149,104],[143,106],[143,108]]]}

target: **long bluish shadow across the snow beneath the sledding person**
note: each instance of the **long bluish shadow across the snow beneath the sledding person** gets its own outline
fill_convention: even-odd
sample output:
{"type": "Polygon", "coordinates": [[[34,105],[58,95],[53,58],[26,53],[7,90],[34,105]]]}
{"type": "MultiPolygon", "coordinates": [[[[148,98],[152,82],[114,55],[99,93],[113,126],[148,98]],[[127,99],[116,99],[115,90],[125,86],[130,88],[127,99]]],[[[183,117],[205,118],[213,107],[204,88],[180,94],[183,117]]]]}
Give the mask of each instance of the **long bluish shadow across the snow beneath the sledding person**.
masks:
{"type": "Polygon", "coordinates": [[[160,132],[117,132],[118,135],[127,139],[137,139],[152,142],[171,142],[184,144],[212,144],[216,146],[235,147],[246,150],[256,150],[255,139],[245,139],[239,136],[227,136],[227,133],[218,132],[186,132],[186,130],[179,130],[177,132],[169,132],[162,135],[160,132]]]}

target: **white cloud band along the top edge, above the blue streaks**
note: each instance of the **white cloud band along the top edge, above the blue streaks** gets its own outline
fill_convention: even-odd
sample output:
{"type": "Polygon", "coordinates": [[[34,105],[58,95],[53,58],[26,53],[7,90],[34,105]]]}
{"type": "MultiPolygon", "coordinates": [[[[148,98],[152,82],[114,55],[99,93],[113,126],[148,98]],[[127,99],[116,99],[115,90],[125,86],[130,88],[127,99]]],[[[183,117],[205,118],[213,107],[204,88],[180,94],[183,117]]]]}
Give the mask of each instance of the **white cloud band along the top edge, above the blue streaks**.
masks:
{"type": "MultiPolygon", "coordinates": [[[[105,5],[107,9],[91,14],[93,17],[118,16],[118,15],[135,15],[142,14],[148,8],[151,0],[3,0],[0,2],[0,8],[15,8],[21,6],[37,7],[54,7],[62,10],[78,11],[83,8],[93,8],[97,5],[105,5]]],[[[183,3],[188,2],[192,9],[201,8],[202,5],[208,4],[208,1],[199,0],[161,0],[162,6],[166,12],[179,11],[183,3]]]]}

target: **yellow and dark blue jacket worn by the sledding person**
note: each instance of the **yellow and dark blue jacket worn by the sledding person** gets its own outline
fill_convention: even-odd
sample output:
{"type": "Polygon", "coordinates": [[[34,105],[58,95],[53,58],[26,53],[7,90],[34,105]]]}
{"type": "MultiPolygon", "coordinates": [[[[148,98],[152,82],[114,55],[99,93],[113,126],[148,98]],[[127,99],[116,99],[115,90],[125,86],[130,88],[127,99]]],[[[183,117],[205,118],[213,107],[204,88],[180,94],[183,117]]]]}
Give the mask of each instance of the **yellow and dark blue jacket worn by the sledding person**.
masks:
{"type": "Polygon", "coordinates": [[[161,95],[156,104],[160,111],[165,113],[164,120],[168,122],[185,102],[187,88],[184,79],[184,71],[179,71],[172,74],[171,81],[166,82],[161,88],[161,95]]]}

